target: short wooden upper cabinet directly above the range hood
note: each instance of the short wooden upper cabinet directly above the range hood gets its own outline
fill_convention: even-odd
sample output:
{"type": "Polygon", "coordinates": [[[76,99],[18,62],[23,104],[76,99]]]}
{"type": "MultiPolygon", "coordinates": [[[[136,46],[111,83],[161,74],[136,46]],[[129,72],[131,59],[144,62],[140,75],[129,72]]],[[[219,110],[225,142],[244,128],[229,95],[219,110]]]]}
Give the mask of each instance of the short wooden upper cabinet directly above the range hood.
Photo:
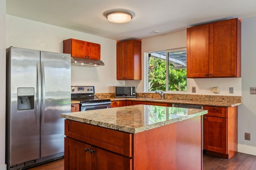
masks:
{"type": "Polygon", "coordinates": [[[63,53],[71,54],[72,57],[100,60],[100,44],[66,39],[63,41],[63,53]]]}

